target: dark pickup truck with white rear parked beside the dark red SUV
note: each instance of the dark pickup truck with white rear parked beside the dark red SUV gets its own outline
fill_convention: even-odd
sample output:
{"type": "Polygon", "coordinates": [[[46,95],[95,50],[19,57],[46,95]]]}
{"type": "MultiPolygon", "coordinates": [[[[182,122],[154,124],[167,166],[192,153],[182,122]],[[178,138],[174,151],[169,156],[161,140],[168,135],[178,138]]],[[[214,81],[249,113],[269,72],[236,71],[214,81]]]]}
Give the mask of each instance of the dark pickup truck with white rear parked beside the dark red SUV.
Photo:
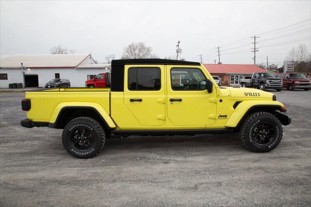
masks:
{"type": "Polygon", "coordinates": [[[244,77],[241,79],[240,84],[242,87],[255,87],[260,90],[276,89],[282,90],[282,79],[276,78],[270,72],[254,72],[252,77],[244,77]]]}

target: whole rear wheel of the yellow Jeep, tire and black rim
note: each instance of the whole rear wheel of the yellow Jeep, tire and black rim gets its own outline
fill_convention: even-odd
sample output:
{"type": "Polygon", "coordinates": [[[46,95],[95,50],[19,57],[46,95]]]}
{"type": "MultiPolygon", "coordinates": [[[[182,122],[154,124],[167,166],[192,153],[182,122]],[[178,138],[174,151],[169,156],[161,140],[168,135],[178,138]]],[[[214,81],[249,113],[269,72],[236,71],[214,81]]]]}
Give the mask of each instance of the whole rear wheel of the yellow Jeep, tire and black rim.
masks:
{"type": "Polygon", "coordinates": [[[62,139],[70,155],[90,158],[103,149],[105,133],[102,125],[93,118],[78,117],[65,126],[62,139]]]}

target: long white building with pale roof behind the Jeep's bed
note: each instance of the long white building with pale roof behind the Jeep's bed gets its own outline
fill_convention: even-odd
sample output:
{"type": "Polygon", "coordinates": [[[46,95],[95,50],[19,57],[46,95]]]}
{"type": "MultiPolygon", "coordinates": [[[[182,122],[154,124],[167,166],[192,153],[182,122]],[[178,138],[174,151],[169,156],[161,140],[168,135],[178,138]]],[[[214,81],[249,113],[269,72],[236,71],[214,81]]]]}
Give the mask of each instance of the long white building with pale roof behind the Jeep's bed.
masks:
{"type": "Polygon", "coordinates": [[[96,64],[90,54],[0,56],[0,88],[12,83],[44,87],[53,78],[69,79],[71,87],[85,87],[87,79],[104,72],[110,72],[110,64],[96,64]]]}

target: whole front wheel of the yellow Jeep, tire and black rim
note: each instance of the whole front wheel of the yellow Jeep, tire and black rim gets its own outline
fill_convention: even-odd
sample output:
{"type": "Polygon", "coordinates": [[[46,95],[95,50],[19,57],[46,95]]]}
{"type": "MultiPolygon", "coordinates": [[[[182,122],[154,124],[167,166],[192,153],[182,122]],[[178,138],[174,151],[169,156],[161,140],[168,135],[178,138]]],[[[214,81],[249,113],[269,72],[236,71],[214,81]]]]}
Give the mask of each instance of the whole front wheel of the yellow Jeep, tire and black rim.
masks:
{"type": "Polygon", "coordinates": [[[283,136],[280,121],[267,112],[249,115],[242,123],[240,138],[246,149],[255,153],[266,153],[275,149],[283,136]]]}

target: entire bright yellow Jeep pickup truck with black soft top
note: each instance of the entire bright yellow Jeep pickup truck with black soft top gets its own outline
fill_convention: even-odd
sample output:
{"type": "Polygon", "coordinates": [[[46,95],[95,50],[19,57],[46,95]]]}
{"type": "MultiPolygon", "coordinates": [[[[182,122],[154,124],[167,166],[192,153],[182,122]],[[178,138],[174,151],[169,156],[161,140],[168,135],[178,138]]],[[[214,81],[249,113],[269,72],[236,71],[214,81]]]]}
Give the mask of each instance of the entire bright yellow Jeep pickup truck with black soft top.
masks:
{"type": "Polygon", "coordinates": [[[73,156],[89,158],[110,134],[195,135],[239,132],[252,152],[269,152],[290,124],[272,93],[220,87],[200,63],[166,59],[113,60],[111,88],[53,88],[26,92],[24,127],[64,129],[73,156]]]}

